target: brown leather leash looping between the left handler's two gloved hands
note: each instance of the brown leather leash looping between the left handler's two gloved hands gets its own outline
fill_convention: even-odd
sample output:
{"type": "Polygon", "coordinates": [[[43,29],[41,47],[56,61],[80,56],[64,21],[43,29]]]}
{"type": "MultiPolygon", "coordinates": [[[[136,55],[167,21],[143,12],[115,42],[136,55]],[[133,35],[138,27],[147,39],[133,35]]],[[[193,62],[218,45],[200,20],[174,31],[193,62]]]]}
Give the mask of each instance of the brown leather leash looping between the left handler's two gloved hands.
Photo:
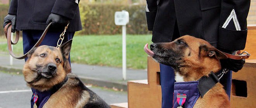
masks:
{"type": "Polygon", "coordinates": [[[9,53],[10,55],[13,57],[13,58],[16,58],[16,59],[24,59],[28,56],[28,53],[31,52],[31,50],[35,47],[38,47],[42,41],[43,41],[43,38],[45,37],[50,25],[52,25],[52,22],[50,22],[47,27],[45,28],[45,31],[43,31],[43,34],[41,35],[41,37],[39,38],[38,42],[36,42],[36,44],[24,55],[22,56],[15,56],[13,51],[12,51],[12,45],[15,45],[18,41],[19,41],[19,31],[16,30],[16,39],[14,42],[12,42],[11,40],[11,33],[12,33],[12,24],[11,23],[8,23],[7,25],[5,25],[4,27],[4,33],[5,33],[5,37],[7,38],[7,47],[8,47],[8,50],[9,50],[9,53]]]}

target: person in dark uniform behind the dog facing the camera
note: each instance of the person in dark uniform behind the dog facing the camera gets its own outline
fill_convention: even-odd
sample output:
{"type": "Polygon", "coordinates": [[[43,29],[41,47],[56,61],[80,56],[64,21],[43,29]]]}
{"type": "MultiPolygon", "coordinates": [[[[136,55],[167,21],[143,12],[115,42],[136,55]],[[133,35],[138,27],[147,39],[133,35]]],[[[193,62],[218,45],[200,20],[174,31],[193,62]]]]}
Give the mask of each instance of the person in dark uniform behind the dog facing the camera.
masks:
{"type": "MultiPolygon", "coordinates": [[[[64,27],[69,22],[63,42],[82,30],[78,3],[80,0],[11,0],[8,15],[4,18],[3,27],[12,23],[12,32],[22,30],[23,52],[27,53],[39,40],[48,23],[53,22],[40,45],[57,46],[57,41],[64,27]]],[[[25,61],[27,58],[25,58],[25,61]]],[[[70,62],[70,58],[69,58],[70,62]]],[[[42,108],[51,91],[40,92],[31,88],[38,95],[36,106],[42,108]]],[[[34,95],[31,98],[33,108],[34,95]]]]}

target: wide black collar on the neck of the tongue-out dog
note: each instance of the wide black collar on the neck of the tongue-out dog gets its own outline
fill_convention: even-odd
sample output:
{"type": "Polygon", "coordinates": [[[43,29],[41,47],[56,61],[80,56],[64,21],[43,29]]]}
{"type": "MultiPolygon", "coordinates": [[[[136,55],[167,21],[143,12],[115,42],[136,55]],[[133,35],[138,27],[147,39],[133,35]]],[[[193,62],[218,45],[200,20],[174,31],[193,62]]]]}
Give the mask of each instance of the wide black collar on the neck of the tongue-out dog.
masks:
{"type": "Polygon", "coordinates": [[[207,91],[209,91],[216,83],[219,82],[219,79],[213,72],[211,72],[209,76],[202,76],[197,81],[199,81],[198,90],[201,97],[203,97],[207,91]]]}

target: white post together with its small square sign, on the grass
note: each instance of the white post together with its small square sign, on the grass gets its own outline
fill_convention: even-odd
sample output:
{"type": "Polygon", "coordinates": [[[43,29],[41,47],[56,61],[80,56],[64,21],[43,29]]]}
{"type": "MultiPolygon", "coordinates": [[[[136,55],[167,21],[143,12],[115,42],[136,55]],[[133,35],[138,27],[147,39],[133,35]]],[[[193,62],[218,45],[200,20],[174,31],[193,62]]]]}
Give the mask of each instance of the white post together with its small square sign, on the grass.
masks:
{"type": "Polygon", "coordinates": [[[129,22],[129,13],[125,10],[115,12],[115,24],[122,25],[123,37],[123,80],[126,80],[126,24],[129,22]]]}

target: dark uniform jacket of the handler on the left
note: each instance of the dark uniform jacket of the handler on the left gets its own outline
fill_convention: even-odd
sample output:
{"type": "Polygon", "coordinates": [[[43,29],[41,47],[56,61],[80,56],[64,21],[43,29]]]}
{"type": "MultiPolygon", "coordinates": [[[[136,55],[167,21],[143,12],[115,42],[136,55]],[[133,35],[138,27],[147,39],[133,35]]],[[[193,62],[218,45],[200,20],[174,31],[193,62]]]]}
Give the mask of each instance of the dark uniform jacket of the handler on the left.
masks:
{"type": "Polygon", "coordinates": [[[44,30],[50,13],[70,19],[68,32],[82,29],[79,7],[75,0],[12,0],[8,14],[17,15],[16,30],[44,30]]]}

